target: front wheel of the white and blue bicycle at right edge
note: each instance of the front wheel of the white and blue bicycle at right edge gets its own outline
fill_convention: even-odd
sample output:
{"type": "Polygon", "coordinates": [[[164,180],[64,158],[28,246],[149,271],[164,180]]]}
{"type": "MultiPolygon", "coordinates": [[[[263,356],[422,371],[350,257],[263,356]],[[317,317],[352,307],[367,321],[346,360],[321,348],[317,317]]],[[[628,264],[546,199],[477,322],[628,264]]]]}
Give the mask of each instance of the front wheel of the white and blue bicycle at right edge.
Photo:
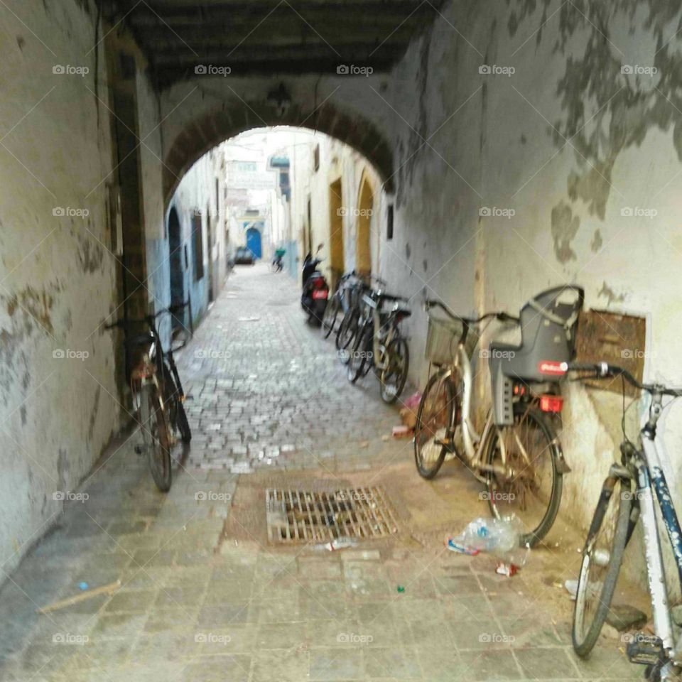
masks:
{"type": "Polygon", "coordinates": [[[602,487],[588,538],[575,595],[573,649],[589,656],[608,615],[627,540],[632,532],[632,481],[607,478],[602,487]]]}

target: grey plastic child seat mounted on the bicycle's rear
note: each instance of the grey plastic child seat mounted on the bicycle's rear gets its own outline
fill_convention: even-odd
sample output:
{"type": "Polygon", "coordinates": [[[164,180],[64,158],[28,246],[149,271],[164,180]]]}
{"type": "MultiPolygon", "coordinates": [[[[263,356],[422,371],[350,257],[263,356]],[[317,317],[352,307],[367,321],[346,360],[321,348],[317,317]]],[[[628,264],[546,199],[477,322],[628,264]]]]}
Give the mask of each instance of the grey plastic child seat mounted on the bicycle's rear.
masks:
{"type": "Polygon", "coordinates": [[[574,285],[556,286],[538,293],[521,308],[521,343],[492,342],[489,368],[495,423],[514,423],[512,391],[514,379],[556,382],[564,374],[561,363],[573,355],[573,340],[578,313],[585,292],[574,285]],[[575,296],[570,303],[559,301],[564,293],[575,296]]]}

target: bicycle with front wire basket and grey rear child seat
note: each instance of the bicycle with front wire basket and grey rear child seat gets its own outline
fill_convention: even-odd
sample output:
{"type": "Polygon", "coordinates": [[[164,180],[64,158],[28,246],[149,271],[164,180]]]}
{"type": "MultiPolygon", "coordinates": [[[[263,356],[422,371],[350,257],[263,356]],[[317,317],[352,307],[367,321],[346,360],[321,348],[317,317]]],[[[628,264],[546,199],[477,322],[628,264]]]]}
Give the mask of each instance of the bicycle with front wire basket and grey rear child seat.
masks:
{"type": "Polygon", "coordinates": [[[521,544],[534,546],[556,519],[563,475],[570,471],[553,423],[545,416],[561,411],[563,401],[538,389],[556,384],[563,374],[561,362],[570,359],[583,290],[565,286],[543,291],[524,305],[519,318],[507,313],[466,318],[441,301],[424,305],[429,313],[426,357],[437,371],[417,411],[417,470],[431,480],[446,456],[459,458],[485,485],[492,514],[516,514],[524,526],[521,544]],[[575,301],[560,302],[565,291],[575,293],[575,301]],[[434,308],[446,318],[433,315],[434,308]],[[471,359],[486,320],[520,325],[521,345],[493,342],[480,352],[488,359],[492,405],[479,434],[472,421],[471,359]]]}

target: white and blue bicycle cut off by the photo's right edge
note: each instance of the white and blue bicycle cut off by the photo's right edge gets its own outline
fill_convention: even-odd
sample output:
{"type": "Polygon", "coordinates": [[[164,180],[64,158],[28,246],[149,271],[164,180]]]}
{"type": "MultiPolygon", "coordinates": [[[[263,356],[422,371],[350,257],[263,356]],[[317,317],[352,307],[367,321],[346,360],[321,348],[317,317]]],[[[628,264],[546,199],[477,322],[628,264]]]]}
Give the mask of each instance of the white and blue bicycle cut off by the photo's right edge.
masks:
{"type": "Polygon", "coordinates": [[[586,658],[595,646],[610,609],[625,547],[641,517],[655,635],[632,637],[627,644],[627,657],[631,663],[647,666],[645,674],[649,680],[679,679],[682,649],[680,640],[676,642],[673,634],[652,488],[676,557],[678,577],[682,581],[682,529],[656,445],[656,427],[664,411],[664,396],[678,398],[682,396],[682,389],[671,389],[663,384],[643,384],[627,369],[606,362],[567,364],[565,370],[590,372],[579,379],[621,377],[622,381],[651,396],[649,414],[642,420],[643,426],[639,431],[642,443],[639,448],[627,438],[623,413],[621,461],[611,466],[602,485],[583,549],[573,611],[573,649],[578,656],[586,658]]]}

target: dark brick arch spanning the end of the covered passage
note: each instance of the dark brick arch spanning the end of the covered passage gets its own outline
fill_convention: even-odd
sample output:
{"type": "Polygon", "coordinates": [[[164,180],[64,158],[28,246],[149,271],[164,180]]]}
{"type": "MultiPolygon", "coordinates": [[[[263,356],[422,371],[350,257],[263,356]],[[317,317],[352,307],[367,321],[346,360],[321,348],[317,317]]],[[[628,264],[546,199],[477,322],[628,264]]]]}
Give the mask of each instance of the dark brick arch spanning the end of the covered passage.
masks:
{"type": "Polygon", "coordinates": [[[340,112],[330,104],[312,112],[292,105],[281,115],[266,104],[249,104],[249,107],[242,104],[207,112],[190,121],[175,137],[163,161],[166,206],[183,175],[207,151],[244,131],[266,126],[307,128],[345,142],[372,163],[384,190],[388,193],[394,191],[391,147],[377,126],[361,115],[340,112]]]}

